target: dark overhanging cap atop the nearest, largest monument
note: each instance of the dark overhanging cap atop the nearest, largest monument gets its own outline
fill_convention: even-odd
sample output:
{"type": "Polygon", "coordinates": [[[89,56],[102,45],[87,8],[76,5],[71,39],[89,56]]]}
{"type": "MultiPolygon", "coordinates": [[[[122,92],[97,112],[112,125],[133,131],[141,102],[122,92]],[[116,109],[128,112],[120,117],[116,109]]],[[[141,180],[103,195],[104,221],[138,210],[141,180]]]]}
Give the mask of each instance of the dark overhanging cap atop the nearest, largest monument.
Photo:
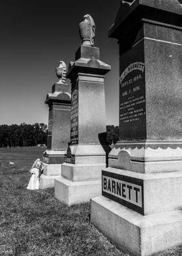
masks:
{"type": "Polygon", "coordinates": [[[121,29],[133,29],[144,18],[182,27],[181,4],[182,0],[121,1],[114,24],[109,29],[109,37],[122,38],[121,29]]]}

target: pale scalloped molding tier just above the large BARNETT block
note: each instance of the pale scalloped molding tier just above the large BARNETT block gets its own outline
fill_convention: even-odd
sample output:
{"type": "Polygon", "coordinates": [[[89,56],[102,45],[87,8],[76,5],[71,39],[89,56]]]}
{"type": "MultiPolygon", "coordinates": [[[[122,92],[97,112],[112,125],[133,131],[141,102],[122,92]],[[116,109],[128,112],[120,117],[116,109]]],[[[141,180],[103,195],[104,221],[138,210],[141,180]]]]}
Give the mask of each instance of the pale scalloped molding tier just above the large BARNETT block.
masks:
{"type": "Polygon", "coordinates": [[[109,167],[146,174],[179,172],[182,149],[114,148],[109,153],[109,167]]]}

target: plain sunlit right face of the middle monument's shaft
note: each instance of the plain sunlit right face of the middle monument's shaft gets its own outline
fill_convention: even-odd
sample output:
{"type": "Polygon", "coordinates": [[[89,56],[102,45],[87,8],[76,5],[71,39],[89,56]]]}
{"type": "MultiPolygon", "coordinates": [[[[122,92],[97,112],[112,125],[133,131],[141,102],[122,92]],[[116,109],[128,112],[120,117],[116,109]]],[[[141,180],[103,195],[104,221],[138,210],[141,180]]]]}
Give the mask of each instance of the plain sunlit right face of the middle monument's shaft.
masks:
{"type": "Polygon", "coordinates": [[[79,81],[79,143],[99,144],[105,122],[104,84],[79,81]]]}

